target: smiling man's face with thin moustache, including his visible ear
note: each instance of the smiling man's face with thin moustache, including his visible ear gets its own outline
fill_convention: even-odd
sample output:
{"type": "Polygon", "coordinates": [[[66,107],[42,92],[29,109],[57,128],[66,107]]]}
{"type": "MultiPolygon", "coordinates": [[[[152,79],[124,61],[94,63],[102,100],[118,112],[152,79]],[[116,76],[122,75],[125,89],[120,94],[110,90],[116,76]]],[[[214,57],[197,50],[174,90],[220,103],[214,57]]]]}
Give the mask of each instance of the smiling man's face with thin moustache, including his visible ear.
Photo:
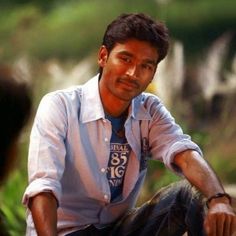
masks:
{"type": "Polygon", "coordinates": [[[130,39],[117,43],[108,54],[101,47],[98,63],[103,72],[100,91],[114,99],[130,101],[146,89],[156,71],[156,48],[145,41],[130,39]]]}

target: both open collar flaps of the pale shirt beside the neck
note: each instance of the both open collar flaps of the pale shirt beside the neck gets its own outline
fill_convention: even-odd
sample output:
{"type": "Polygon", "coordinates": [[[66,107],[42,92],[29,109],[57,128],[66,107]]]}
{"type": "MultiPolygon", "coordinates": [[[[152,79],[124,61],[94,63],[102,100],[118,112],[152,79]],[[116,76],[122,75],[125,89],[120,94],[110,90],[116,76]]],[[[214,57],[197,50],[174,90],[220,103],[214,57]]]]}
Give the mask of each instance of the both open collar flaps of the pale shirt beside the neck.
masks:
{"type": "MultiPolygon", "coordinates": [[[[80,120],[82,123],[98,120],[105,117],[102,106],[98,75],[94,76],[82,86],[80,120]]],[[[137,120],[150,120],[151,115],[144,106],[145,93],[140,94],[132,100],[129,114],[137,120]]]]}

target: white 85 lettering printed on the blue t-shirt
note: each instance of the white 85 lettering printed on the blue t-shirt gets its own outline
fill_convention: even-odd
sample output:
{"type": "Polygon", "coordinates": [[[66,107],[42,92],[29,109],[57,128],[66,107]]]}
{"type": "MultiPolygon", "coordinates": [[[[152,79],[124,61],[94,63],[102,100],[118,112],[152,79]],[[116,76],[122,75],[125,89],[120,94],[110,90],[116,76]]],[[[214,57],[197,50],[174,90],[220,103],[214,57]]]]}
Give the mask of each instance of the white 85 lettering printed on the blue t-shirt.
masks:
{"type": "Polygon", "coordinates": [[[111,143],[107,177],[111,188],[111,199],[122,193],[123,179],[128,163],[130,147],[127,143],[111,143]]]}

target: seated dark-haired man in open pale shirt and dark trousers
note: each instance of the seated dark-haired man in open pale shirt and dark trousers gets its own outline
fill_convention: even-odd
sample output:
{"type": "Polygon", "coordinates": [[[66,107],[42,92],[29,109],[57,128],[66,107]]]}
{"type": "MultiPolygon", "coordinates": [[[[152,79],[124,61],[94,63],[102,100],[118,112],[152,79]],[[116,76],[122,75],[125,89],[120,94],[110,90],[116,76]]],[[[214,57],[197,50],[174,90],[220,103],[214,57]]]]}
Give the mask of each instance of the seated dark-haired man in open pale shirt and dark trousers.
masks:
{"type": "Polygon", "coordinates": [[[204,235],[203,228],[233,235],[230,196],[199,147],[156,96],[143,93],[168,46],[163,24],[121,15],[105,32],[99,75],[42,99],[23,197],[28,235],[204,235]],[[134,208],[149,157],[202,192],[205,220],[201,195],[183,182],[134,208]]]}

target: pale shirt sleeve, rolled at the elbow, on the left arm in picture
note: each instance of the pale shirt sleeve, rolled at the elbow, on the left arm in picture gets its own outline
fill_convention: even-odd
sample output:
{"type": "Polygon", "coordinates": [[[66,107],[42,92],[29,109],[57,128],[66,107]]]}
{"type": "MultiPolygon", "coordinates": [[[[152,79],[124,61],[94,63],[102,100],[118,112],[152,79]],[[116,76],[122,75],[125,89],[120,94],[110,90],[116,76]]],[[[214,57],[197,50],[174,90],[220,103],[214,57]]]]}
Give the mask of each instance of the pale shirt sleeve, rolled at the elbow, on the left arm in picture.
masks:
{"type": "Polygon", "coordinates": [[[59,202],[60,179],[65,165],[66,109],[60,97],[46,95],[40,102],[30,135],[28,155],[29,185],[23,204],[41,192],[50,191],[59,202]]]}

